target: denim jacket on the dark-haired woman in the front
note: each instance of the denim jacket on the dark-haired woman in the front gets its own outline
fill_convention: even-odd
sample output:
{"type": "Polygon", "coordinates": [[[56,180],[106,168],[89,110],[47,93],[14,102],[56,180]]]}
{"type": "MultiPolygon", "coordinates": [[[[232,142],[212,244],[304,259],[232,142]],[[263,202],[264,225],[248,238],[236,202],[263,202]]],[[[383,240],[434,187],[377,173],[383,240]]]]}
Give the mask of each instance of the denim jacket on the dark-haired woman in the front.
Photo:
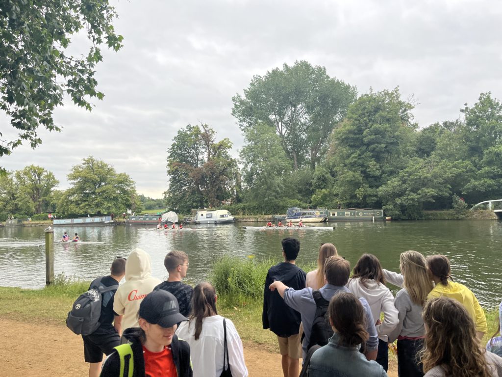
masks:
{"type": "Polygon", "coordinates": [[[387,377],[384,368],[376,361],[368,361],[359,352],[359,345],[339,345],[337,332],[328,344],[314,352],[309,364],[309,377],[387,377]]]}

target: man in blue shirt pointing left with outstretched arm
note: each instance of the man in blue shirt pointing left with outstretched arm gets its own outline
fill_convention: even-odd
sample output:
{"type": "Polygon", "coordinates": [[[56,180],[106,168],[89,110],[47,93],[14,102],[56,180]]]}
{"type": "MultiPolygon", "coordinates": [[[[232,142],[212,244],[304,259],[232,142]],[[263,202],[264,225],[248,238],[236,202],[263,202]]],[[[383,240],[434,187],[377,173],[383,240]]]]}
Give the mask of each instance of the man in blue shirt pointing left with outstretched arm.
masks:
{"type": "MultiPolygon", "coordinates": [[[[284,302],[290,308],[295,309],[301,313],[303,329],[305,337],[303,339],[303,359],[307,356],[308,350],[313,345],[325,345],[328,342],[329,336],[319,339],[319,332],[316,331],[312,334],[314,320],[318,308],[325,307],[331,298],[338,292],[349,292],[345,285],[347,284],[350,275],[350,263],[338,255],[330,256],[324,264],[324,278],[325,284],[319,290],[312,288],[305,288],[303,290],[293,290],[286,286],[282,281],[276,280],[270,285],[270,290],[279,292],[279,295],[284,298],[284,302]],[[317,304],[319,303],[319,304],[317,304]],[[316,335],[317,339],[312,338],[311,335],[316,335]]],[[[371,315],[371,309],[368,302],[364,298],[359,298],[359,301],[364,307],[365,312],[365,329],[369,334],[369,338],[365,343],[364,355],[368,360],[374,360],[378,350],[378,337],[371,315]]],[[[325,318],[325,317],[324,317],[325,318]]],[[[325,324],[328,328],[329,325],[325,324]]],[[[323,334],[324,335],[324,334],[323,334]]]]}

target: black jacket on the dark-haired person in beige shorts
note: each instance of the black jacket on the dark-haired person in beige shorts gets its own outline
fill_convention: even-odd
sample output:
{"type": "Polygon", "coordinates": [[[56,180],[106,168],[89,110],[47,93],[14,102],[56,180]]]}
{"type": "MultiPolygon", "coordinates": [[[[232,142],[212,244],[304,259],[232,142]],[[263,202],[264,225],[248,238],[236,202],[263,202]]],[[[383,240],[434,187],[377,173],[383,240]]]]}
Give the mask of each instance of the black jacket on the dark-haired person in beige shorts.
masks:
{"type": "Polygon", "coordinates": [[[263,294],[263,328],[269,329],[278,336],[288,337],[298,334],[301,316],[296,310],[284,303],[279,292],[272,292],[269,286],[275,281],[282,281],[285,285],[295,290],[305,288],[306,273],[298,266],[282,262],[270,267],[265,279],[263,294]]]}

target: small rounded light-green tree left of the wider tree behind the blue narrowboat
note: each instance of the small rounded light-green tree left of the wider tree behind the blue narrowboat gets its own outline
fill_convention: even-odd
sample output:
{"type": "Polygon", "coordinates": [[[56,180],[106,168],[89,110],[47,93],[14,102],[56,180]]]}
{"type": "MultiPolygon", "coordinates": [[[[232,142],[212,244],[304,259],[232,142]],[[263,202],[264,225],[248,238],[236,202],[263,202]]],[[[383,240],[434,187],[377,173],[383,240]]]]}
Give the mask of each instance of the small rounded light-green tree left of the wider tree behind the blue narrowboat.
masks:
{"type": "Polygon", "coordinates": [[[59,184],[51,171],[41,166],[29,165],[16,171],[19,186],[18,202],[29,213],[40,214],[47,210],[52,191],[59,184]]]}

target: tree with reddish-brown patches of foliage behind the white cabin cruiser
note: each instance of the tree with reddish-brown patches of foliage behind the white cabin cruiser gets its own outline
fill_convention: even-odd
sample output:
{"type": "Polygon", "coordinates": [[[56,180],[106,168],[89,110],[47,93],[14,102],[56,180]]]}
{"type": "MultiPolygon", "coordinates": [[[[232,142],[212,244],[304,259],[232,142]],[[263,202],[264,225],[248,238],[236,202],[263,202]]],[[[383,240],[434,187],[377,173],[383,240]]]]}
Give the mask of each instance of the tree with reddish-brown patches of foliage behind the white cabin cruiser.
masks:
{"type": "Polygon", "coordinates": [[[216,141],[207,124],[188,125],[178,131],[168,149],[168,206],[180,212],[205,206],[218,207],[235,196],[237,164],[230,157],[228,138],[216,141]]]}

